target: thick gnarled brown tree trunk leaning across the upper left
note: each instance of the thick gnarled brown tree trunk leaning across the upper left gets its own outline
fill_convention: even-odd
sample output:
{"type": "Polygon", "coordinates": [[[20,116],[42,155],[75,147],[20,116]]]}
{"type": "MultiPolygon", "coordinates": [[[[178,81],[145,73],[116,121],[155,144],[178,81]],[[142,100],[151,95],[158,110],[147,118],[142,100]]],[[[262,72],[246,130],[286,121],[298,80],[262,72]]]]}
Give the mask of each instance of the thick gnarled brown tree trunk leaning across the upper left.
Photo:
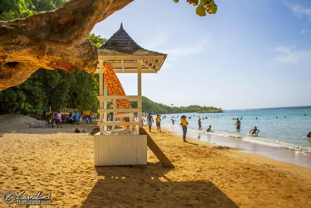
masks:
{"type": "Polygon", "coordinates": [[[38,68],[93,73],[98,57],[88,35],[132,1],[70,0],[51,12],[0,21],[0,90],[22,83],[38,68]]]}

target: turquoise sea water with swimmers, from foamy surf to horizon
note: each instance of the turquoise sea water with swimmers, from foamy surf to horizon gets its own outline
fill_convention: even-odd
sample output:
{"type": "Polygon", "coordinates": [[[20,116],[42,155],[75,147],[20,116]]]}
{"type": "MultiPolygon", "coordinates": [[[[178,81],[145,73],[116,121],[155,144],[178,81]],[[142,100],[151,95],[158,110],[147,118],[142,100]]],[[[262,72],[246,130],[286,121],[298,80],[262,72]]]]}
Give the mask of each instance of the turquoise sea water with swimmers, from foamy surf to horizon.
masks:
{"type": "MultiPolygon", "coordinates": [[[[170,119],[175,117],[172,118],[175,120],[174,127],[182,131],[179,125],[181,115],[183,114],[162,114],[161,126],[172,127],[170,119]],[[166,119],[163,118],[164,115],[167,116],[166,119]]],[[[188,131],[204,132],[211,125],[211,130],[214,132],[206,134],[225,136],[230,139],[236,139],[232,136],[239,136],[242,140],[252,143],[311,153],[311,138],[306,137],[311,131],[311,106],[226,110],[223,113],[186,113],[184,115],[191,116],[191,119],[187,118],[188,131]],[[198,128],[199,116],[202,121],[201,129],[198,128]],[[236,120],[233,118],[242,118],[240,131],[236,130],[234,126],[236,120]],[[260,130],[258,136],[249,134],[254,126],[260,130]]]]}

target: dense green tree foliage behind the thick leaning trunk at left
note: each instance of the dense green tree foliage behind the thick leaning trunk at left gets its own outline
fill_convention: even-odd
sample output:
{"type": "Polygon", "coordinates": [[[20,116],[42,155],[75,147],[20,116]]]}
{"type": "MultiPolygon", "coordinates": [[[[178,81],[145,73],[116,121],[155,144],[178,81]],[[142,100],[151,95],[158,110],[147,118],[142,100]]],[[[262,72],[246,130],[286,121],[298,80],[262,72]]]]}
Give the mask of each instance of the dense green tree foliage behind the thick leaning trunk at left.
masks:
{"type": "MultiPolygon", "coordinates": [[[[53,10],[65,0],[4,0],[0,2],[0,20],[23,18],[53,10]]],[[[89,35],[89,41],[101,46],[105,38],[89,35]]],[[[0,114],[18,113],[37,116],[51,106],[81,110],[98,109],[99,75],[81,70],[36,70],[25,82],[0,91],[0,114]]]]}

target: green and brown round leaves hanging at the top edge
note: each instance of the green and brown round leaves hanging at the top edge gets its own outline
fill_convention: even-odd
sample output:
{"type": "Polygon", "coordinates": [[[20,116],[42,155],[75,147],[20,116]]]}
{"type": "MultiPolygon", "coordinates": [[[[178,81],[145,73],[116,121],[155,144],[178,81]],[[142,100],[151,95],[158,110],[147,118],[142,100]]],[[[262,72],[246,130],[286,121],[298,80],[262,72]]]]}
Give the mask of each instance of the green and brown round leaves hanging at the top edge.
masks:
{"type": "MultiPolygon", "coordinates": [[[[179,2],[179,0],[173,0],[174,2],[179,2]]],[[[192,4],[196,8],[196,13],[199,16],[206,16],[207,14],[215,14],[217,12],[217,5],[214,0],[187,0],[189,4],[192,4]]]]}

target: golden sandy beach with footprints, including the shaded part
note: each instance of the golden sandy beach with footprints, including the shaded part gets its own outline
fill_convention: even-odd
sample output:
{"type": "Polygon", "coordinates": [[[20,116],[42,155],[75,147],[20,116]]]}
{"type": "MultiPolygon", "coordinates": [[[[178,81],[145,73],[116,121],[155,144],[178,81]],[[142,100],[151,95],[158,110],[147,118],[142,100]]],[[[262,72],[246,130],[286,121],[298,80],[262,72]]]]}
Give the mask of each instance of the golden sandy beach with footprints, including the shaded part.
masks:
{"type": "MultiPolygon", "coordinates": [[[[79,129],[91,131],[95,123],[79,129]]],[[[311,169],[193,138],[183,143],[155,127],[151,137],[174,169],[161,167],[149,149],[147,168],[95,168],[93,136],[63,126],[0,124],[1,195],[51,192],[54,207],[311,207],[311,169]]],[[[26,205],[1,199],[0,207],[10,206],[26,205]]]]}

